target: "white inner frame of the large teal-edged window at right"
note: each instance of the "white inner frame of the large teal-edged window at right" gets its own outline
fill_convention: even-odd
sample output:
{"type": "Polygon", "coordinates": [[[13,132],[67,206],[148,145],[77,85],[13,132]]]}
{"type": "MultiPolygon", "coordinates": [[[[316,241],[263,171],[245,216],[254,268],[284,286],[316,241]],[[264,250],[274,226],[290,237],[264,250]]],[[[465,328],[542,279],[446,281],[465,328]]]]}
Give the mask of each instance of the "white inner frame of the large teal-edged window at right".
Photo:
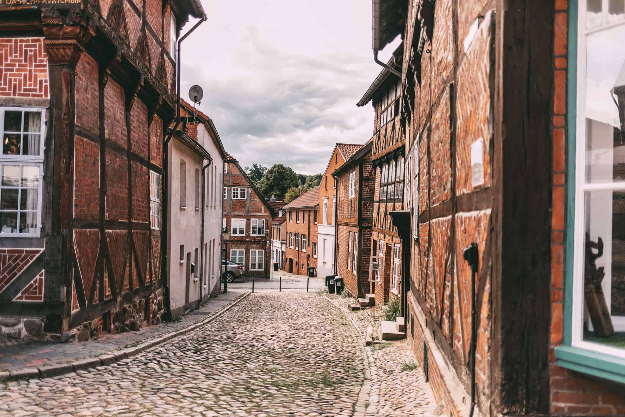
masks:
{"type": "MultiPolygon", "coordinates": [[[[577,18],[577,126],[576,126],[576,179],[575,179],[575,222],[574,222],[574,254],[573,254],[573,299],[572,299],[572,326],[571,345],[589,349],[603,354],[611,354],[619,358],[625,358],[625,349],[612,348],[599,343],[584,341],[584,258],[586,248],[586,213],[584,208],[584,197],[587,192],[592,191],[623,191],[625,181],[586,183],[586,153],[589,152],[586,137],[586,38],[592,33],[603,31],[609,28],[621,26],[624,20],[614,22],[604,22],[603,24],[586,28],[586,1],[578,3],[579,13],[577,18]]],[[[607,1],[602,2],[602,11],[606,11],[607,1]]],[[[604,12],[606,13],[606,12],[604,12]]],[[[592,236],[591,236],[592,239],[592,236]]],[[[607,240],[607,239],[606,239],[607,240]]],[[[604,256],[611,256],[611,244],[604,250],[604,256]]],[[[606,300],[611,299],[611,273],[608,270],[606,279],[603,282],[603,291],[606,300]]],[[[608,305],[609,310],[609,305],[608,305]]],[[[625,318],[612,316],[612,324],[616,331],[622,331],[625,326],[625,318]],[[620,329],[619,329],[620,328],[620,329]]]]}

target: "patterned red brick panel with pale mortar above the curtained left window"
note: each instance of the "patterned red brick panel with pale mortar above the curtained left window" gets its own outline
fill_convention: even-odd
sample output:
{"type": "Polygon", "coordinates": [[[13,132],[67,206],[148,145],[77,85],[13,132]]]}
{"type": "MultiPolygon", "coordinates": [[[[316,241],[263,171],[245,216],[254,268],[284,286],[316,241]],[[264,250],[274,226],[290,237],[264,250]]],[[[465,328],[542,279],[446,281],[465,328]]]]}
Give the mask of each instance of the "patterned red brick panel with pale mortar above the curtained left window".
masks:
{"type": "Polygon", "coordinates": [[[0,38],[0,97],[49,98],[43,38],[0,38]]]}

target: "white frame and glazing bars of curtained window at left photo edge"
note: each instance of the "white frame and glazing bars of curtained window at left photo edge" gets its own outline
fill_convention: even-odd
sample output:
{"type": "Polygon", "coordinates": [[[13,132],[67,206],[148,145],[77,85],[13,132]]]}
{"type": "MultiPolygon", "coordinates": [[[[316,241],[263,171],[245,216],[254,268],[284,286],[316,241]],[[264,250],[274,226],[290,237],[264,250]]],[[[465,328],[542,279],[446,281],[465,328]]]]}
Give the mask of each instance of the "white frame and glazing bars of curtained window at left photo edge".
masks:
{"type": "MultiPolygon", "coordinates": [[[[22,126],[21,126],[21,131],[20,132],[14,132],[15,134],[20,134],[21,135],[21,143],[20,143],[20,151],[22,149],[24,149],[24,135],[26,135],[27,133],[24,132],[24,112],[30,112],[30,113],[41,113],[41,127],[39,130],[39,154],[38,155],[5,155],[4,154],[4,149],[0,148],[0,180],[1,180],[1,176],[2,176],[2,171],[3,171],[3,166],[4,165],[10,165],[10,166],[19,166],[20,168],[20,177],[21,177],[21,172],[22,172],[22,167],[23,166],[36,166],[37,168],[39,168],[39,184],[37,185],[37,210],[36,210],[36,227],[34,229],[35,233],[2,233],[1,229],[0,229],[0,236],[1,237],[6,237],[6,238],[39,238],[39,236],[41,236],[41,206],[43,204],[43,200],[42,200],[42,194],[43,194],[43,178],[44,178],[44,172],[43,172],[43,156],[44,156],[44,142],[46,140],[46,109],[43,108],[28,108],[28,107],[11,107],[11,106],[0,106],[0,134],[2,136],[4,136],[4,113],[6,111],[20,111],[22,113],[22,126]]],[[[26,188],[26,187],[23,187],[26,188]]],[[[17,187],[12,187],[12,186],[7,186],[7,187],[2,187],[2,189],[19,189],[20,191],[18,191],[18,197],[17,197],[17,201],[18,201],[18,209],[14,210],[14,209],[8,209],[8,210],[2,210],[2,212],[5,213],[17,213],[17,223],[16,223],[16,230],[19,231],[19,227],[20,227],[20,215],[21,213],[35,213],[35,210],[29,210],[29,211],[23,211],[19,208],[19,204],[21,204],[21,179],[20,179],[20,184],[17,187]]],[[[0,195],[2,194],[2,191],[0,189],[0,195]]]]}

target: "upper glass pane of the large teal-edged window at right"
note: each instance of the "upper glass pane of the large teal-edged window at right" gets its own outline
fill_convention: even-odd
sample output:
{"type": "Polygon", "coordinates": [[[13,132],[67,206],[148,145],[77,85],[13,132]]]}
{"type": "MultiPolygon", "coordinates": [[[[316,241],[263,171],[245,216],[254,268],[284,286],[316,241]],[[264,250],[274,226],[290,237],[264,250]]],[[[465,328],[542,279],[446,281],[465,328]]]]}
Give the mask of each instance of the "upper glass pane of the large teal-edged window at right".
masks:
{"type": "Polygon", "coordinates": [[[586,37],[586,181],[625,181],[625,25],[586,37]]]}

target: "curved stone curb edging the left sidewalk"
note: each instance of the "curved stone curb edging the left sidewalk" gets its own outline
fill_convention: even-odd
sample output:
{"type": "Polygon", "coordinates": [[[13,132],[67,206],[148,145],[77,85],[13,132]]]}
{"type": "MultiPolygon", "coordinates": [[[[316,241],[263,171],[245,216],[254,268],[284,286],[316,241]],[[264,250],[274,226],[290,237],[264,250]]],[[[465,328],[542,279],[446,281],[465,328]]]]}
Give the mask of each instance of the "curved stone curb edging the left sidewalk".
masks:
{"type": "MultiPolygon", "coordinates": [[[[139,344],[138,346],[134,346],[134,348],[122,349],[119,351],[113,351],[110,353],[102,354],[97,356],[96,358],[85,358],[79,361],[74,361],[72,363],[59,363],[48,366],[40,366],[39,368],[22,368],[16,369],[15,371],[9,372],[0,372],[0,381],[15,381],[17,379],[32,379],[41,377],[50,377],[50,376],[59,376],[66,373],[73,373],[78,370],[84,370],[88,368],[95,368],[96,366],[103,365],[111,365],[123,359],[128,359],[131,356],[134,356],[138,353],[143,352],[146,349],[149,349],[157,344],[161,344],[165,341],[171,340],[175,337],[182,336],[183,334],[189,333],[194,329],[197,329],[204,324],[210,323],[212,320],[221,316],[221,314],[226,313],[227,310],[236,306],[236,304],[241,303],[252,291],[247,291],[241,296],[233,299],[230,303],[227,303],[222,308],[218,309],[210,316],[207,316],[199,321],[189,324],[188,326],[173,331],[172,333],[164,334],[163,336],[159,336],[158,338],[151,339],[147,342],[139,344]],[[54,373],[56,371],[56,373],[54,373]]],[[[69,376],[69,375],[68,375],[69,376]]]]}

